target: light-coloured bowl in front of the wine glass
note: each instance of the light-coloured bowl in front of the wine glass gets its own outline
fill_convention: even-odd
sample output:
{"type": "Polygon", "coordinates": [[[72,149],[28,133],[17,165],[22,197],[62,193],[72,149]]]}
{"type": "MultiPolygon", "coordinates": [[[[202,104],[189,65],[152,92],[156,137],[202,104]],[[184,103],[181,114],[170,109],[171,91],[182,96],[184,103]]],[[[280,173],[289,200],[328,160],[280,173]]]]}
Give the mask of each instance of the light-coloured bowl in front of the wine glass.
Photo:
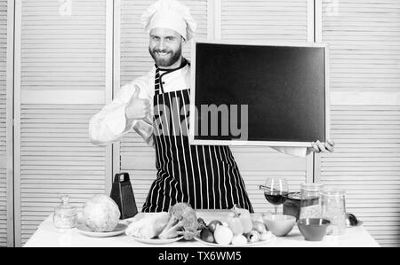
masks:
{"type": "Polygon", "coordinates": [[[296,217],[286,214],[269,214],[263,216],[264,224],[276,237],[284,237],[292,231],[296,217]]]}

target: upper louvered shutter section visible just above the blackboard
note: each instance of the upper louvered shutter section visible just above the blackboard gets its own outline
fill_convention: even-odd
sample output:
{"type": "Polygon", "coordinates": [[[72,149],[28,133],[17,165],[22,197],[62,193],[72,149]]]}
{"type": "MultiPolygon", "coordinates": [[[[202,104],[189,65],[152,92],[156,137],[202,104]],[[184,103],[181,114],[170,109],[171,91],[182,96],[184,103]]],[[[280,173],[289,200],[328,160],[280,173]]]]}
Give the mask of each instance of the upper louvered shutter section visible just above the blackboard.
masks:
{"type": "MultiPolygon", "coordinates": [[[[218,2],[218,1],[217,1],[218,2]]],[[[221,37],[244,41],[307,42],[307,0],[221,0],[221,37]]]]}

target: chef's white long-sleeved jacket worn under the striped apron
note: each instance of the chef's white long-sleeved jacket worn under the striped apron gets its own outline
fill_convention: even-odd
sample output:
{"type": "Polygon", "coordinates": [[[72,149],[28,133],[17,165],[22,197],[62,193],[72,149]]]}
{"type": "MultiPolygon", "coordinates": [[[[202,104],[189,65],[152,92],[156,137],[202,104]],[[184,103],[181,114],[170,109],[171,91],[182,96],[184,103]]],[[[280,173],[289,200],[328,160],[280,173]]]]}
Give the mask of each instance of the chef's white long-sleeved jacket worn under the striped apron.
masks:
{"type": "MultiPolygon", "coordinates": [[[[131,129],[134,129],[143,139],[153,145],[153,96],[155,94],[154,79],[156,66],[153,66],[148,74],[125,84],[116,93],[114,100],[105,105],[99,113],[95,114],[89,124],[89,136],[93,144],[106,146],[117,141],[131,129]],[[148,99],[151,111],[143,120],[127,121],[125,107],[131,99],[135,86],[139,87],[139,97],[148,99]]],[[[162,72],[160,73],[162,74],[162,72]]],[[[164,74],[162,78],[164,92],[175,90],[187,90],[190,88],[190,66],[186,65],[169,74],[164,74]]],[[[154,145],[153,145],[154,146],[154,145]]],[[[273,147],[279,152],[304,157],[310,151],[306,147],[273,147]]]]}

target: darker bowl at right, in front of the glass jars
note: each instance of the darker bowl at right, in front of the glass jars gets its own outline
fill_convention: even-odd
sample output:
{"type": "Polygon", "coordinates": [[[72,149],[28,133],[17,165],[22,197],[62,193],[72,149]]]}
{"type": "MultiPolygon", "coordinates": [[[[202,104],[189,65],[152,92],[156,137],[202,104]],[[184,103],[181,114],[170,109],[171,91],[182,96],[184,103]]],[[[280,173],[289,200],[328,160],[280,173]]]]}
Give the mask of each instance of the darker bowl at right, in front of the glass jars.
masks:
{"type": "Polygon", "coordinates": [[[300,219],[297,222],[301,235],[308,241],[323,240],[330,224],[329,220],[323,218],[300,219]]]}

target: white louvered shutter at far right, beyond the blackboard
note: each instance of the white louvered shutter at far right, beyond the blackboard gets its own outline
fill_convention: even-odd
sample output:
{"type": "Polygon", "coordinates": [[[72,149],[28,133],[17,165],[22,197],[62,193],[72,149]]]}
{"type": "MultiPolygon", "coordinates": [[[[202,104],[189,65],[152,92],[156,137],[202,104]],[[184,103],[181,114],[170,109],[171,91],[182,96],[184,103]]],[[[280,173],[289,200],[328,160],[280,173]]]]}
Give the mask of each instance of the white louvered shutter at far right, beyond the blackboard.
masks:
{"type": "Polygon", "coordinates": [[[321,181],[347,191],[348,212],[381,246],[400,246],[400,3],[324,0],[321,10],[337,144],[321,181]]]}

